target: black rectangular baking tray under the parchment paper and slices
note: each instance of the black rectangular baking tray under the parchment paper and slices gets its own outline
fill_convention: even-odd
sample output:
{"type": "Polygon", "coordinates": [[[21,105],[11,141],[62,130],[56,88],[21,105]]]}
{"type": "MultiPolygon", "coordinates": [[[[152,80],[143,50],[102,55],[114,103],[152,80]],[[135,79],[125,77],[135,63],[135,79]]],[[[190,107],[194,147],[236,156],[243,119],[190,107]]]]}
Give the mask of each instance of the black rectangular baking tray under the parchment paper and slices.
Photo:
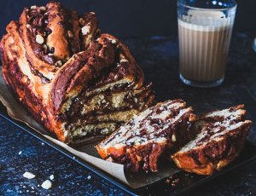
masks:
{"type": "Polygon", "coordinates": [[[89,164],[82,159],[79,159],[78,157],[73,155],[73,153],[67,152],[66,149],[57,146],[52,141],[44,138],[43,135],[40,135],[35,130],[29,128],[26,124],[20,123],[19,121],[10,118],[8,113],[6,112],[6,108],[2,104],[0,104],[0,116],[7,119],[10,123],[15,124],[21,130],[25,130],[27,133],[37,137],[40,141],[44,141],[44,143],[48,144],[50,147],[54,147],[57,151],[65,154],[70,159],[73,159],[73,157],[75,157],[76,159],[73,159],[74,161],[83,165],[85,168],[93,171],[96,175],[101,176],[108,182],[113,183],[113,185],[121,188],[126,193],[130,193],[131,195],[178,195],[181,193],[186,193],[190,189],[197,187],[202,183],[208,182],[213,178],[224,175],[224,173],[230,170],[234,170],[236,167],[247,164],[253,161],[253,159],[256,159],[256,146],[254,146],[250,141],[247,141],[246,146],[241,152],[241,155],[233,163],[228,165],[224,170],[218,171],[212,176],[198,176],[194,174],[189,174],[185,171],[180,171],[172,176],[172,180],[169,183],[166,182],[166,179],[162,179],[160,182],[156,182],[147,187],[132,189],[131,187],[128,187],[114,177],[108,175],[108,173],[104,172],[103,170],[96,168],[94,165],[89,164]],[[175,186],[172,185],[173,181],[175,181],[175,186]]]}

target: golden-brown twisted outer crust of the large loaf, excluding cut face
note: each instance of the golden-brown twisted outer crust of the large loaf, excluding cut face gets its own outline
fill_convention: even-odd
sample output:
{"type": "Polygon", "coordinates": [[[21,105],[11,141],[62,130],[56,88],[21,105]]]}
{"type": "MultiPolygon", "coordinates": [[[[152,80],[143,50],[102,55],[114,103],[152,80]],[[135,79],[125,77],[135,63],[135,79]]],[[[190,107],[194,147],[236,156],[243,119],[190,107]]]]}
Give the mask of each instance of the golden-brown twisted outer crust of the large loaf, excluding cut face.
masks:
{"type": "MultiPolygon", "coordinates": [[[[64,142],[73,141],[67,138],[62,112],[76,96],[121,79],[134,90],[143,88],[142,70],[123,43],[100,34],[96,14],[79,17],[60,3],[24,9],[20,20],[7,26],[0,49],[9,88],[34,118],[64,142]],[[129,61],[116,61],[119,55],[129,61]]],[[[148,93],[144,98],[148,105],[153,97],[148,93]]]]}

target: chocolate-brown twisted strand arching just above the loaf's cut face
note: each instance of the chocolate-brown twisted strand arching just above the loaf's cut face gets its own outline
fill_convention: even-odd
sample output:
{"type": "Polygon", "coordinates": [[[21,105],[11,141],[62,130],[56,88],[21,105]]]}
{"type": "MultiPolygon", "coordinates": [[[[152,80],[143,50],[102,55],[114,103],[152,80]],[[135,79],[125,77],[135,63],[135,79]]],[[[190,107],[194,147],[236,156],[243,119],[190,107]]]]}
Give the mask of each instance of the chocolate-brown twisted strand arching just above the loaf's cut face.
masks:
{"type": "Polygon", "coordinates": [[[87,89],[90,81],[98,78],[100,73],[111,66],[114,61],[114,47],[102,37],[92,42],[89,49],[73,55],[62,66],[52,82],[50,102],[53,111],[58,111],[66,97],[78,95],[82,89],[87,89]]]}

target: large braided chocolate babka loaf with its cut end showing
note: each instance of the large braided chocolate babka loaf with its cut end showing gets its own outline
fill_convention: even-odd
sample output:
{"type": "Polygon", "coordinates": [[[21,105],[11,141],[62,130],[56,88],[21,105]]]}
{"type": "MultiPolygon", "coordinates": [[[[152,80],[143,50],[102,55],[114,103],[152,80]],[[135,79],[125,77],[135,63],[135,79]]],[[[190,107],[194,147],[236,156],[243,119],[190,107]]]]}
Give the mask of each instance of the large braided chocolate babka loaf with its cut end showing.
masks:
{"type": "Polygon", "coordinates": [[[129,49],[100,33],[92,12],[54,2],[24,9],[0,47],[9,88],[66,143],[103,138],[154,99],[129,49]]]}

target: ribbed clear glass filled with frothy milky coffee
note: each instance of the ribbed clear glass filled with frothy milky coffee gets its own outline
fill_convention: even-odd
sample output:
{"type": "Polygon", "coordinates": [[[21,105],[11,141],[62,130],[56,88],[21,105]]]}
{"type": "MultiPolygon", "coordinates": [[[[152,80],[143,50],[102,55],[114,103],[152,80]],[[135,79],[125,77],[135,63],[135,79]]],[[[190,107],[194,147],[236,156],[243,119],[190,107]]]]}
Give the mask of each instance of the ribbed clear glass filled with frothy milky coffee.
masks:
{"type": "Polygon", "coordinates": [[[180,78],[184,84],[222,84],[236,1],[177,0],[180,78]]]}

